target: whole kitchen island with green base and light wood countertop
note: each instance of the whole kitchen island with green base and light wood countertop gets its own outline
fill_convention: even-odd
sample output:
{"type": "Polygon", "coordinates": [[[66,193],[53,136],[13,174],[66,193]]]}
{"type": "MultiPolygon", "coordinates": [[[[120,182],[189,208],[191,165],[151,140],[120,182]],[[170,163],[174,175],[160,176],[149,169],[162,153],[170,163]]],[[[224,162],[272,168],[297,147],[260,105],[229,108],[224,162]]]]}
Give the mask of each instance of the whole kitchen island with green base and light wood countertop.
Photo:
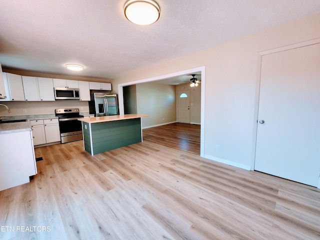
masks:
{"type": "Polygon", "coordinates": [[[124,114],[78,118],[82,121],[84,150],[91,155],[142,141],[141,117],[124,114]]]}

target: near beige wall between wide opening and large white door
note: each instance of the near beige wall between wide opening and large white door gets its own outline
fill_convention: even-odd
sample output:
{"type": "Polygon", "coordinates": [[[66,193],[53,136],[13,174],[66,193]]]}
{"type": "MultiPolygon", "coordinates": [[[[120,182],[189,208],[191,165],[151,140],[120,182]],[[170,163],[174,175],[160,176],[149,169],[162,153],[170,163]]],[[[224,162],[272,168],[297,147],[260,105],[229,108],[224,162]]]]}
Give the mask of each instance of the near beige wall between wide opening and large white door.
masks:
{"type": "Polygon", "coordinates": [[[203,155],[248,169],[254,161],[258,52],[319,38],[319,25],[320,13],[130,72],[112,80],[113,89],[117,84],[205,66],[203,155]]]}

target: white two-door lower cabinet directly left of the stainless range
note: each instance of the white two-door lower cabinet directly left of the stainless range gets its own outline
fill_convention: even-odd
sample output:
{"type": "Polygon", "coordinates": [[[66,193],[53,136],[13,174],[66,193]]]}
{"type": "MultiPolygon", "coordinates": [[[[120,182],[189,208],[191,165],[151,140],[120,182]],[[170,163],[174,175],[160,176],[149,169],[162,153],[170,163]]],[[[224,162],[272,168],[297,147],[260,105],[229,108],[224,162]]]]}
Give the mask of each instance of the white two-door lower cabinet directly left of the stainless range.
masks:
{"type": "Polygon", "coordinates": [[[30,125],[34,145],[60,141],[60,129],[57,118],[30,120],[30,125]]]}

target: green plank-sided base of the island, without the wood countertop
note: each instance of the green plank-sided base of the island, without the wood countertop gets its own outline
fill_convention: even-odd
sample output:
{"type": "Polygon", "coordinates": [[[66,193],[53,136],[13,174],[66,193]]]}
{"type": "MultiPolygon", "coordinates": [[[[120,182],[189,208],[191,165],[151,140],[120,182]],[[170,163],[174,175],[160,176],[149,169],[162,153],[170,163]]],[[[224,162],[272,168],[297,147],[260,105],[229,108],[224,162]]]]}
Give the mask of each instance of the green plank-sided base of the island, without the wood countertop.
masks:
{"type": "Polygon", "coordinates": [[[141,142],[141,118],[91,123],[82,122],[84,149],[92,154],[141,142]],[[87,129],[85,129],[87,125],[87,129]]]}

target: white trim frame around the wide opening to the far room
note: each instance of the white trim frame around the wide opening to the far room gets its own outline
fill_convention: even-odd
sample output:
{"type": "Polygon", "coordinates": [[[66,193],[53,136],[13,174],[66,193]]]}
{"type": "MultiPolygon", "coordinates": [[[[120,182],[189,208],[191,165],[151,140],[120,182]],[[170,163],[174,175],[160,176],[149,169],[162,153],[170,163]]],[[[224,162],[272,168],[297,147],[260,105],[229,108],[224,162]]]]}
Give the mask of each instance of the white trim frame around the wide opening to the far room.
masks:
{"type": "Polygon", "coordinates": [[[158,81],[161,79],[167,79],[175,76],[180,76],[180,75],[185,75],[185,74],[190,74],[193,72],[201,72],[201,129],[200,129],[200,156],[204,157],[204,129],[205,129],[205,124],[204,124],[204,106],[205,106],[205,66],[199,66],[191,69],[186,69],[182,71],[177,71],[177,72],[172,72],[164,75],[159,75],[159,76],[154,76],[154,77],[149,77],[149,78],[144,78],[144,79],[139,79],[139,80],[134,80],[130,82],[124,82],[118,84],[118,103],[119,103],[119,114],[124,114],[124,108],[123,108],[123,86],[128,86],[132,84],[138,84],[138,83],[143,83],[143,82],[151,82],[151,81],[158,81]]]}

